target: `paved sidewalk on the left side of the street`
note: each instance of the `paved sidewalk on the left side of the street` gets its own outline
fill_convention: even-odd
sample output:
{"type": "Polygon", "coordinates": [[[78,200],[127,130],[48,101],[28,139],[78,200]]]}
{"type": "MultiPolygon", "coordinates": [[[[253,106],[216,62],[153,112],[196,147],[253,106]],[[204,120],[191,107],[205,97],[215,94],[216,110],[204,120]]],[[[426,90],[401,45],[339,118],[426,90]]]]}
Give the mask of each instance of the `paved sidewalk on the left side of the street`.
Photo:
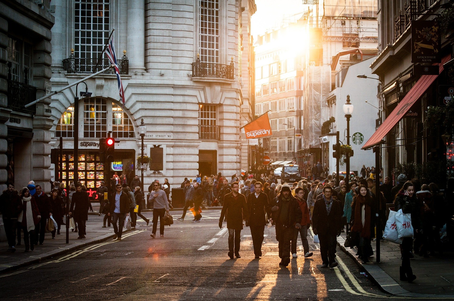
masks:
{"type": "MultiPolygon", "coordinates": [[[[152,218],[152,214],[145,213],[147,218],[152,218]]],[[[40,262],[46,258],[51,258],[57,255],[61,255],[65,252],[73,251],[89,244],[99,243],[114,236],[114,228],[102,228],[103,225],[102,216],[91,215],[87,221],[87,235],[85,239],[77,239],[79,233],[74,233],[69,230],[69,243],[66,243],[66,226],[62,225],[60,235],[55,234],[55,239],[52,239],[50,232],[45,233],[44,244],[35,245],[33,251],[24,252],[24,238],[22,233],[21,245],[16,246],[16,252],[8,252],[8,242],[0,243],[0,273],[17,269],[22,266],[30,265],[35,262],[40,262]]],[[[139,218],[136,229],[146,227],[146,223],[139,218]]],[[[123,228],[123,233],[131,230],[123,228]]],[[[133,231],[133,230],[132,230],[133,231]]]]}

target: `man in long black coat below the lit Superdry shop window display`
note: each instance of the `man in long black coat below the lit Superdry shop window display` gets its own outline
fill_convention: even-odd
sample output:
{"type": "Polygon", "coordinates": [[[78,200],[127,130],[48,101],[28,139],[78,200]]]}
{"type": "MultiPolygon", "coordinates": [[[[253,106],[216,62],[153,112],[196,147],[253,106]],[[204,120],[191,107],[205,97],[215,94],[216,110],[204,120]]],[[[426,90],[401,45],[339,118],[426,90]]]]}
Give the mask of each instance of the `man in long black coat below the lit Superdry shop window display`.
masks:
{"type": "Polygon", "coordinates": [[[71,207],[69,209],[69,215],[72,215],[74,222],[79,225],[78,239],[85,238],[85,234],[87,234],[86,223],[88,220],[89,209],[93,212],[93,208],[91,207],[91,203],[88,198],[88,193],[86,191],[82,191],[82,184],[79,182],[76,184],[76,192],[73,194],[71,207]]]}

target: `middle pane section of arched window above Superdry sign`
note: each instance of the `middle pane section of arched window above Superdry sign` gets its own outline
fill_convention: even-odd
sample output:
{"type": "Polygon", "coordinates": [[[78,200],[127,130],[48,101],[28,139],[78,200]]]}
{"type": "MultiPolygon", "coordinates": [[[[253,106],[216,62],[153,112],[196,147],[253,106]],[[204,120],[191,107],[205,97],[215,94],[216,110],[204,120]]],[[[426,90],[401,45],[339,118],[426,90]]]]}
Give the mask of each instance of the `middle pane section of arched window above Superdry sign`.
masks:
{"type": "Polygon", "coordinates": [[[101,138],[107,133],[107,101],[99,97],[84,100],[84,137],[101,138]]]}

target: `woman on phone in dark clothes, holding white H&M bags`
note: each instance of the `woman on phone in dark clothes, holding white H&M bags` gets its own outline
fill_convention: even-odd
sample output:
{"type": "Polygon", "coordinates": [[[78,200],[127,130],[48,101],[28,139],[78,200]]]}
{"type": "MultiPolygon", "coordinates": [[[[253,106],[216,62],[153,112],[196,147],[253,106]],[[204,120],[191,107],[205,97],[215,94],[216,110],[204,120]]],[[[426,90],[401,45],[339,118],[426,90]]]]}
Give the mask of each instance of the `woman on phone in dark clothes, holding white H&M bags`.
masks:
{"type": "MultiPolygon", "coordinates": [[[[418,199],[415,196],[414,185],[410,181],[405,182],[404,186],[402,186],[399,193],[395,196],[394,210],[399,211],[400,209],[402,209],[403,214],[411,215],[411,226],[413,227],[415,233],[418,233],[420,231],[421,209],[419,208],[418,199]]],[[[410,267],[410,257],[413,256],[411,252],[413,237],[404,237],[400,245],[400,252],[402,254],[400,280],[412,282],[416,279],[416,276],[413,275],[413,270],[410,267]]]]}

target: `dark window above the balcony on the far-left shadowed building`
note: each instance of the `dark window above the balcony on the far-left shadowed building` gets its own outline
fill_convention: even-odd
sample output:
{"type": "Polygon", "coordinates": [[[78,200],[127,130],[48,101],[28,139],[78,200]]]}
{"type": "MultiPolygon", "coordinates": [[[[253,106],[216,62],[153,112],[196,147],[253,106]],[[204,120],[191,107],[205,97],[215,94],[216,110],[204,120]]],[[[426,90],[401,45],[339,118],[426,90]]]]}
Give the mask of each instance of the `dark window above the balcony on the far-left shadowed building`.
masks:
{"type": "Polygon", "coordinates": [[[31,46],[18,39],[8,38],[8,79],[30,84],[31,46]]]}

